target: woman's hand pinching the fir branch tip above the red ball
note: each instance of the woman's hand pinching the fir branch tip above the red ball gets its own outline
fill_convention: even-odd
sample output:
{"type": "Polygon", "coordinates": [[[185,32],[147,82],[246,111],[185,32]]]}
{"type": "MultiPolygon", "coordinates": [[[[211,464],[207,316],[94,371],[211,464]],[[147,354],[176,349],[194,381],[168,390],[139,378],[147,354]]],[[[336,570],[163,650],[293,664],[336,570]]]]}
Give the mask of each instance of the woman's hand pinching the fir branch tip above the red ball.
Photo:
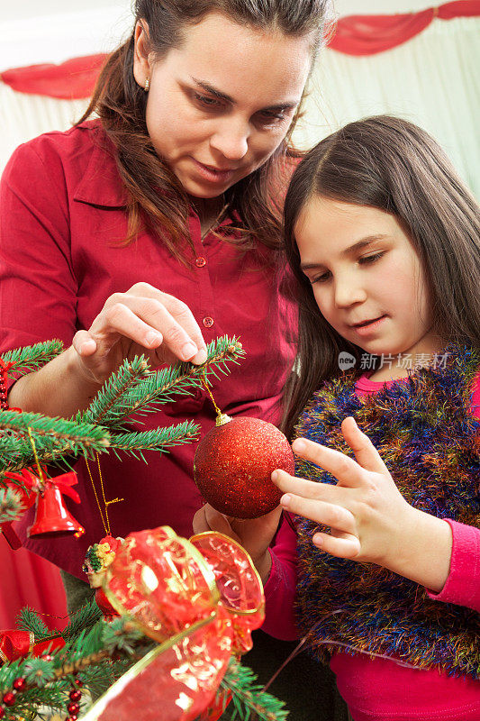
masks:
{"type": "Polygon", "coordinates": [[[145,355],[155,368],[162,363],[207,358],[200,327],[188,306],[149,283],[113,293],[87,331],[73,339],[80,371],[102,385],[123,360],[145,355]]]}

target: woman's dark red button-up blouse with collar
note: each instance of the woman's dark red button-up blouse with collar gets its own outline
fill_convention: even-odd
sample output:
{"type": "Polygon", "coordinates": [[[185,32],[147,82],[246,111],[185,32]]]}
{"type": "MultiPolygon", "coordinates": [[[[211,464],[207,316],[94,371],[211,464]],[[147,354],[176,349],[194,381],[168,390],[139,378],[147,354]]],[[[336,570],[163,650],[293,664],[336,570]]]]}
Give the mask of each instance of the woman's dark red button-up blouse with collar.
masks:
{"type": "MultiPolygon", "coordinates": [[[[148,232],[122,247],[127,234],[125,189],[100,124],[83,123],[50,132],[20,146],[0,187],[0,351],[59,338],[68,347],[77,330],[88,328],[113,292],[144,281],[185,301],[205,342],[223,334],[240,336],[247,353],[231,374],[213,386],[229,415],[254,415],[276,423],[279,399],[292,367],[294,309],[279,292],[274,252],[264,246],[240,251],[212,233],[201,241],[192,210],[189,225],[195,257],[186,268],[148,232]]],[[[226,219],[221,227],[231,224],[226,219]]],[[[218,232],[219,229],[217,229],[218,232]]],[[[142,430],[192,419],[205,434],[214,423],[208,397],[196,391],[178,397],[144,418],[142,430]]],[[[105,497],[123,497],[109,507],[113,535],[171,525],[192,533],[201,506],[192,479],[196,443],[170,452],[146,452],[147,463],[113,453],[101,468],[105,497]]],[[[95,464],[90,464],[97,488],[95,464]]],[[[84,578],[86,547],[104,527],[86,473],[76,467],[81,506],[67,501],[86,527],[80,539],[28,540],[27,548],[84,578]]],[[[32,523],[24,517],[19,526],[32,523]]]]}

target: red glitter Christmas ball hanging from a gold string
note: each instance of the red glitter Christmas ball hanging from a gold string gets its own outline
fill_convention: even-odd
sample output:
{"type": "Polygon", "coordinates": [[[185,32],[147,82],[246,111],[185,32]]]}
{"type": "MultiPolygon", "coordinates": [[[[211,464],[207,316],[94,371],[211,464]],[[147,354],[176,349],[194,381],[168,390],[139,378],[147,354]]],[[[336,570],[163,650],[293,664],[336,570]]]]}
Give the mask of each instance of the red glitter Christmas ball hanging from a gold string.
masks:
{"type": "Polygon", "coordinates": [[[195,452],[194,478],[205,501],[226,516],[258,518],[282,492],[270,478],[276,468],[294,473],[285,435],[259,418],[220,415],[195,452]]]}

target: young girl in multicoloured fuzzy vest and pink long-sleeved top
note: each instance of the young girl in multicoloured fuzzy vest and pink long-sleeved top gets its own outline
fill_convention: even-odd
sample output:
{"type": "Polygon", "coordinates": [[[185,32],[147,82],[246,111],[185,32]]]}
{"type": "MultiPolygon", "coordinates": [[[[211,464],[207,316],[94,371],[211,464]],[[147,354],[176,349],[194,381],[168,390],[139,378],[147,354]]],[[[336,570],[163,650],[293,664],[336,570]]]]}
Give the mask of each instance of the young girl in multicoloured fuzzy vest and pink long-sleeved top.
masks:
{"type": "Polygon", "coordinates": [[[246,544],[264,630],[330,653],[355,721],[480,717],[479,231],[412,123],[350,123],[308,154],[285,201],[298,477],[272,475],[296,534],[267,550],[277,512],[195,519],[246,544]]]}

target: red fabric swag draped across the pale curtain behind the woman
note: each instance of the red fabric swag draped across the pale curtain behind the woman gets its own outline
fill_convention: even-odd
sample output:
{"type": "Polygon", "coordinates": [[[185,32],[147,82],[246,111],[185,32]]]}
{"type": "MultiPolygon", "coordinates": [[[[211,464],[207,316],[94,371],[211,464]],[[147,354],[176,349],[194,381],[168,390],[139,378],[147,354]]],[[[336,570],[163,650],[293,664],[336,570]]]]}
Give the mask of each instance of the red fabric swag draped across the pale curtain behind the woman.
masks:
{"type": "MultiPolygon", "coordinates": [[[[331,50],[347,55],[375,55],[412,40],[434,18],[480,16],[480,0],[457,0],[420,13],[395,15],[349,15],[336,24],[329,42],[331,50]]],[[[20,93],[75,100],[92,95],[95,81],[107,56],[88,55],[60,65],[42,64],[13,68],[0,74],[1,80],[20,93]]]]}

